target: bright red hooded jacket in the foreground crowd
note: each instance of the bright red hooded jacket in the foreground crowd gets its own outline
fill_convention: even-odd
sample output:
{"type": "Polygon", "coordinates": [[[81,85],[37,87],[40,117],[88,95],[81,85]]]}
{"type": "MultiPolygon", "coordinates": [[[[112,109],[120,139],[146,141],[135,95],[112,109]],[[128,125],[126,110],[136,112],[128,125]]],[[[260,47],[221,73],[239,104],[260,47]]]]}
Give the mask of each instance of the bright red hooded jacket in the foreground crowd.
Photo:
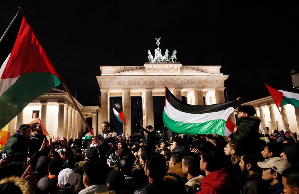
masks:
{"type": "Polygon", "coordinates": [[[224,168],[209,173],[202,178],[201,186],[197,194],[225,194],[239,193],[235,184],[230,180],[230,175],[224,168]]]}

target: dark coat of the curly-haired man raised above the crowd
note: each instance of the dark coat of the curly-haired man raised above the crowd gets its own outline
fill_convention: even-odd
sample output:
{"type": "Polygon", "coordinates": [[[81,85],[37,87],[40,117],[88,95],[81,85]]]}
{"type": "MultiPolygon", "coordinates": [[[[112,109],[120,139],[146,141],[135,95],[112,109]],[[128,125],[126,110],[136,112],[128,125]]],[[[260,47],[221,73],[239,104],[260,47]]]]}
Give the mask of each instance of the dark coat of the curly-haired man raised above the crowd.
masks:
{"type": "Polygon", "coordinates": [[[242,152],[259,153],[259,124],[258,117],[241,117],[238,119],[238,130],[233,133],[233,138],[242,146],[242,152]]]}

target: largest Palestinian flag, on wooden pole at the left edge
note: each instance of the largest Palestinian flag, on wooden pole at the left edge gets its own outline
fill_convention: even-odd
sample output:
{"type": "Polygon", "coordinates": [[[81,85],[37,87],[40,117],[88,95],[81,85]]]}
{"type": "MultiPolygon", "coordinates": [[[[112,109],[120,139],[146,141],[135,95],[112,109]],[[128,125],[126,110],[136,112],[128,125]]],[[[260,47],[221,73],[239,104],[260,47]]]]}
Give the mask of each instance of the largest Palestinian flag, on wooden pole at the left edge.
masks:
{"type": "Polygon", "coordinates": [[[0,39],[0,129],[32,100],[60,84],[21,10],[0,39]]]}

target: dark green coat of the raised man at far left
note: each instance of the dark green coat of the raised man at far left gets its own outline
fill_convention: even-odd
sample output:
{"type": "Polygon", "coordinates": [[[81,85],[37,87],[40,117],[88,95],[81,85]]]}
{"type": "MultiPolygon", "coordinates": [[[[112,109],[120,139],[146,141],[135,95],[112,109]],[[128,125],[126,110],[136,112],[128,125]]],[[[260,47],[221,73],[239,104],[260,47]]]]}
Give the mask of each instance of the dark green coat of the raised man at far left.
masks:
{"type": "Polygon", "coordinates": [[[26,156],[28,155],[28,141],[29,138],[24,138],[19,131],[12,135],[8,141],[5,143],[1,152],[6,152],[7,155],[11,153],[24,153],[26,156]]]}

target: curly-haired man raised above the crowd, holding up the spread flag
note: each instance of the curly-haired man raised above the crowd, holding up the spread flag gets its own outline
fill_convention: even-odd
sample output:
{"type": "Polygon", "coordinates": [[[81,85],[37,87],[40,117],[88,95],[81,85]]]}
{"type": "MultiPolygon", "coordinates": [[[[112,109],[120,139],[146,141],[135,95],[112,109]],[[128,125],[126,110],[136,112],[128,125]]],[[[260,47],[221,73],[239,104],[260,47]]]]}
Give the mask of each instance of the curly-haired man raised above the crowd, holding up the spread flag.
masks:
{"type": "Polygon", "coordinates": [[[239,106],[238,112],[233,138],[240,143],[242,152],[259,153],[259,124],[261,120],[254,117],[256,112],[253,106],[239,106]]]}

